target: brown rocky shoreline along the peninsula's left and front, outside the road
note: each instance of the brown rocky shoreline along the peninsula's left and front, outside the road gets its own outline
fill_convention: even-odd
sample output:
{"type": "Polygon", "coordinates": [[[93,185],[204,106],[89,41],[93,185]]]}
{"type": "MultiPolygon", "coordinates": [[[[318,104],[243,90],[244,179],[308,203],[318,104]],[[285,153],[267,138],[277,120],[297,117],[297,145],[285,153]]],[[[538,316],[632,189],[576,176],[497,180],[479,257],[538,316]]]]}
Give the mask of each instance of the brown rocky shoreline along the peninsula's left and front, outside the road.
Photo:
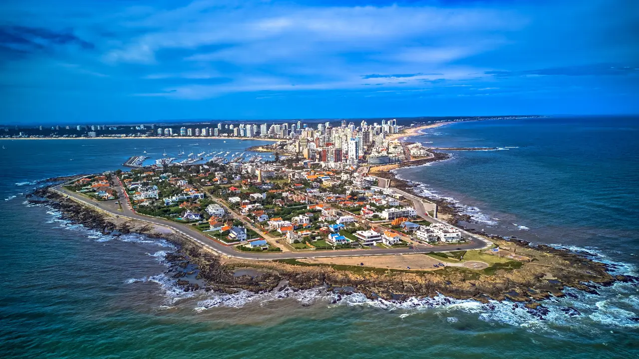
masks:
{"type": "Polygon", "coordinates": [[[218,256],[176,234],[160,233],[152,225],[106,215],[49,191],[47,187],[39,188],[27,197],[32,204],[43,204],[60,211],[61,217],[71,224],[82,224],[102,234],[117,236],[139,233],[173,243],[176,250],[164,258],[170,265],[166,274],[173,277],[184,291],[200,289],[233,294],[243,290],[265,293],[282,291],[286,287],[293,291],[326,287],[327,291],[339,291],[339,300],[341,295],[351,293],[351,289],[341,289],[347,287],[370,299],[383,298],[397,302],[411,297],[434,297],[440,294],[482,303],[511,300],[524,302],[521,305],[525,305],[532,314],[543,317],[544,307],[538,301],[552,296],[565,296],[566,287],[598,294],[597,289],[611,286],[614,282],[639,284],[638,278],[611,275],[610,271],[614,270],[612,266],[597,263],[580,254],[545,245],[531,246],[525,241],[507,240],[500,236],[490,238],[498,245],[516,247],[518,254],[528,256],[532,261],[480,271],[446,267],[427,272],[309,264],[293,259],[249,261],[218,256]],[[259,274],[236,275],[235,271],[240,268],[253,268],[259,270],[259,274]],[[196,283],[202,281],[204,285],[196,283]]]}

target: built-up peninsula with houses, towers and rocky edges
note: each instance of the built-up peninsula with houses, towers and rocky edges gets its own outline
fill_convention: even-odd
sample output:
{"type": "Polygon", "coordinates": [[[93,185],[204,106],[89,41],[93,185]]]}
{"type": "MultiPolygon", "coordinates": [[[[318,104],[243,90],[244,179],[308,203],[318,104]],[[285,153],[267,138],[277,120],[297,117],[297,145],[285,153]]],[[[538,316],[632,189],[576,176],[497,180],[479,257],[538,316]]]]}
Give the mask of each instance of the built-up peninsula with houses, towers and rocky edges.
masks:
{"type": "Polygon", "coordinates": [[[459,227],[468,218],[413,193],[384,167],[447,155],[397,140],[409,132],[384,131],[366,123],[303,130],[278,142],[289,155],[272,161],[212,159],[58,178],[29,200],[102,233],[176,243],[166,259],[185,290],[200,289],[181,269],[191,263],[204,289],[224,293],[286,284],[387,300],[445,294],[526,302],[543,317],[539,301],[566,295],[565,287],[596,294],[599,286],[637,281],[567,250],[459,227]],[[237,275],[247,268],[252,275],[237,275]]]}

